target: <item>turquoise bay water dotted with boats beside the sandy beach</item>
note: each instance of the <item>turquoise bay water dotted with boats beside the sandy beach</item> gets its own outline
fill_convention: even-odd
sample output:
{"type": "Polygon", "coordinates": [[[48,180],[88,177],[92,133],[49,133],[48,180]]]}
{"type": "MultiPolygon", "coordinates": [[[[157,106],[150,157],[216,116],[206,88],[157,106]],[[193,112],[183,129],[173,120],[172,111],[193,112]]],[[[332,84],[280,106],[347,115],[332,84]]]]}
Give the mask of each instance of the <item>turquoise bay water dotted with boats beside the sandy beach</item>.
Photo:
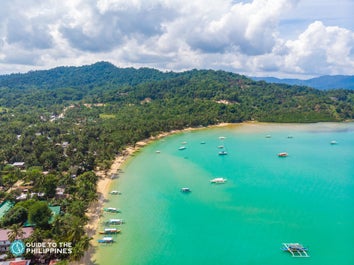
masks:
{"type": "Polygon", "coordinates": [[[111,189],[122,195],[105,206],[122,213],[103,220],[126,223],[114,244],[98,247],[96,264],[354,264],[353,123],[176,134],[137,153],[111,189]],[[228,181],[211,184],[215,177],[228,181]],[[311,257],[292,258],[282,242],[302,243],[311,257]]]}

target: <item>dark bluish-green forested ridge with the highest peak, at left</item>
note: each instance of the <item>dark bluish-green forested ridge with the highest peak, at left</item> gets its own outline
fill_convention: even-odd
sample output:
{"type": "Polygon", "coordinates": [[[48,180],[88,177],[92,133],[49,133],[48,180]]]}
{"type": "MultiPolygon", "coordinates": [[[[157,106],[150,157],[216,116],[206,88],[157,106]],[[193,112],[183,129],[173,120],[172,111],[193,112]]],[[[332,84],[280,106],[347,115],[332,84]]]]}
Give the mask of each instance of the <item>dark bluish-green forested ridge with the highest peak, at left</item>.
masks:
{"type": "Polygon", "coordinates": [[[0,87],[56,89],[63,87],[92,87],[136,85],[142,82],[164,80],[173,76],[152,68],[118,68],[108,62],[84,66],[61,66],[50,70],[30,71],[25,74],[0,75],[0,87]]]}

